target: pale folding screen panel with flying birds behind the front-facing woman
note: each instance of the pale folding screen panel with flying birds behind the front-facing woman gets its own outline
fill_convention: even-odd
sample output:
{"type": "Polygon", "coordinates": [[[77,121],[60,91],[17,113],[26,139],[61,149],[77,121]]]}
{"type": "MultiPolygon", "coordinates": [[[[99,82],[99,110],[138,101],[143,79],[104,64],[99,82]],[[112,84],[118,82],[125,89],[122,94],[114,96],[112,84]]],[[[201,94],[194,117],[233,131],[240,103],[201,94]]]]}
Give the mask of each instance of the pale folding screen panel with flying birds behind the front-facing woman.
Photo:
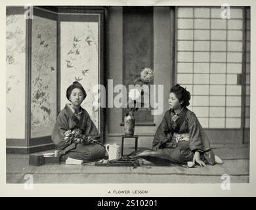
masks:
{"type": "Polygon", "coordinates": [[[87,92],[81,106],[97,129],[100,108],[93,106],[93,87],[100,84],[100,14],[61,14],[60,18],[60,110],[70,101],[66,89],[79,81],[87,92]]]}

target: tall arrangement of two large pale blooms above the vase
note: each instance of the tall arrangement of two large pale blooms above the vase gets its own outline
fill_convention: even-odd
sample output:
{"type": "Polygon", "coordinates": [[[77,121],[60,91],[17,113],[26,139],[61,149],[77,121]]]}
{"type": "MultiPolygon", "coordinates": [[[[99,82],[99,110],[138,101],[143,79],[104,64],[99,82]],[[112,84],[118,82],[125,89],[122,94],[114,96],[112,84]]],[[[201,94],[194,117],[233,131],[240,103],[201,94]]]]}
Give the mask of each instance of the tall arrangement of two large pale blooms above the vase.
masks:
{"type": "MultiPolygon", "coordinates": [[[[151,68],[143,68],[142,71],[140,72],[140,77],[138,79],[135,79],[135,88],[131,89],[128,93],[128,96],[129,98],[131,98],[131,101],[129,102],[127,108],[130,109],[130,112],[135,112],[139,110],[139,107],[136,106],[137,100],[140,98],[140,96],[146,94],[144,92],[144,89],[142,89],[141,87],[142,85],[148,85],[152,82],[153,79],[154,71],[151,68]]],[[[143,107],[144,103],[140,103],[141,107],[143,107]]]]}

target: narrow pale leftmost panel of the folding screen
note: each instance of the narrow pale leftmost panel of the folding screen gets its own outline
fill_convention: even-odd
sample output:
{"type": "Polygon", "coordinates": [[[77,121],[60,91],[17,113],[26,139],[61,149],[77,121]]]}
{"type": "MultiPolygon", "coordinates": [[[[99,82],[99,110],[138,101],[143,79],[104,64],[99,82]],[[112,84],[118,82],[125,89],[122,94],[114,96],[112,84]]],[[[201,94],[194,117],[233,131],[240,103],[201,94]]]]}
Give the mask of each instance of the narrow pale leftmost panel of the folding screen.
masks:
{"type": "Polygon", "coordinates": [[[6,136],[19,142],[25,139],[26,129],[26,19],[22,12],[7,9],[6,18],[6,136]]]}

